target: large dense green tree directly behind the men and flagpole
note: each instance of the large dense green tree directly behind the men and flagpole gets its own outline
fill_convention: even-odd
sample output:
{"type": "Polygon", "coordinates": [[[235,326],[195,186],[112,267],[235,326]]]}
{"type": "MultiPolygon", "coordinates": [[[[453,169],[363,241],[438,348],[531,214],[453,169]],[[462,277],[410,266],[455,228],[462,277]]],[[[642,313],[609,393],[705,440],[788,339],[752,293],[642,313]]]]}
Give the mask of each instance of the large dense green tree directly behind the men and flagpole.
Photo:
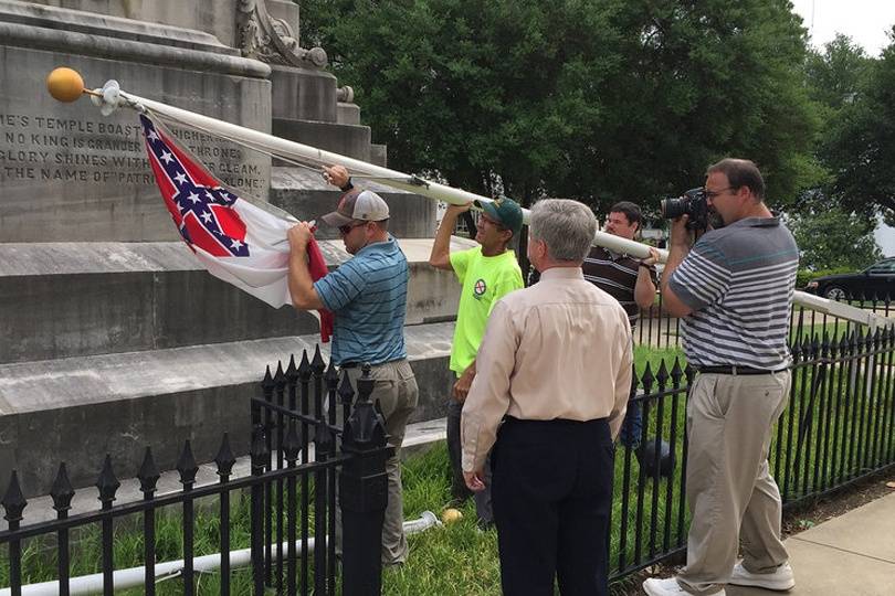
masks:
{"type": "Polygon", "coordinates": [[[655,205],[740,156],[775,206],[815,185],[787,0],[303,0],[390,164],[528,202],[655,205]]]}

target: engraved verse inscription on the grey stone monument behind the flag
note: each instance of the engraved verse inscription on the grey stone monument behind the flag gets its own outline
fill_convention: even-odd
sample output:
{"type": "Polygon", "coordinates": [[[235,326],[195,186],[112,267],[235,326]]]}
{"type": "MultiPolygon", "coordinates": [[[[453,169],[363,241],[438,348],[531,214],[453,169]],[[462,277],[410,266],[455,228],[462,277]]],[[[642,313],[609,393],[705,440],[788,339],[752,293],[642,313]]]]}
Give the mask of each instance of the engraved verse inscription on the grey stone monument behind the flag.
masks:
{"type": "MultiPolygon", "coordinates": [[[[265,171],[244,148],[190,129],[172,130],[220,180],[262,195],[265,171]]],[[[0,113],[0,187],[28,181],[154,185],[140,126],[122,119],[0,113]]]]}

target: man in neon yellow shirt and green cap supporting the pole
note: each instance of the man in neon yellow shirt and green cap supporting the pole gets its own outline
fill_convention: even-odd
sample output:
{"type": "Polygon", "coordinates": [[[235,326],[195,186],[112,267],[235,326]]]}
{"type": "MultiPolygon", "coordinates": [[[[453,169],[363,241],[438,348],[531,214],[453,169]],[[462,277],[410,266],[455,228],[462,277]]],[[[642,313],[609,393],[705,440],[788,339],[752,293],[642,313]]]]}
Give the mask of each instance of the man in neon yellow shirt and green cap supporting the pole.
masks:
{"type": "MultiPolygon", "coordinates": [[[[448,206],[429,257],[430,265],[454,272],[463,285],[451,349],[451,370],[456,374],[456,382],[451,391],[452,398],[448,401],[448,453],[455,499],[465,499],[470,494],[461,468],[460,416],[475,377],[475,354],[494,305],[510,291],[523,287],[516,254],[509,248],[513,238],[518,237],[522,231],[522,207],[506,198],[491,203],[476,202],[476,206],[482,209],[475,235],[480,246],[451,253],[451,233],[456,226],[457,216],[468,211],[470,206],[471,203],[448,206]]],[[[475,493],[475,508],[481,523],[493,522],[491,491],[475,493]]]]}

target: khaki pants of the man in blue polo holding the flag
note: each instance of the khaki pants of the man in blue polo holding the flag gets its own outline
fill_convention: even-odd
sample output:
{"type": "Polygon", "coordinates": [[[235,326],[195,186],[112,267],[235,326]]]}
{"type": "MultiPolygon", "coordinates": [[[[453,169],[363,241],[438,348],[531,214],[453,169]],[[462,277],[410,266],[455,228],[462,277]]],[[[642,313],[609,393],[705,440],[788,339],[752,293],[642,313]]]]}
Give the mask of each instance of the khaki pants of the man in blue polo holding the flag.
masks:
{"type": "MultiPolygon", "coordinates": [[[[357,391],[357,380],[362,371],[359,366],[347,369],[347,371],[351,386],[357,391]]],[[[389,445],[394,447],[394,455],[386,461],[386,471],[389,477],[389,502],[386,507],[386,520],[382,523],[382,564],[394,565],[407,560],[408,546],[404,536],[404,511],[401,494],[401,444],[404,440],[407,421],[417,407],[420,391],[417,387],[417,377],[407,360],[373,366],[370,370],[370,376],[375,381],[370,402],[373,404],[379,402],[379,407],[386,417],[389,445]]],[[[338,509],[336,511],[340,513],[338,509]]],[[[341,515],[339,514],[338,518],[341,515]]],[[[340,522],[340,519],[338,521],[340,522]]]]}

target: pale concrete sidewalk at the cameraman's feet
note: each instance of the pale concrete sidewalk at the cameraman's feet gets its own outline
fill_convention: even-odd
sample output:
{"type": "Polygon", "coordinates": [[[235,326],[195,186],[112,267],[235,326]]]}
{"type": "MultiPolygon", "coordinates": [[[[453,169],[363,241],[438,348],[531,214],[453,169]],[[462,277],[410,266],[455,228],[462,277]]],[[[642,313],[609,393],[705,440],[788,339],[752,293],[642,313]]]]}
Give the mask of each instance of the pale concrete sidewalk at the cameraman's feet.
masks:
{"type": "MultiPolygon", "coordinates": [[[[796,587],[787,594],[895,594],[895,493],[800,532],[786,545],[796,573],[796,587]]],[[[726,592],[729,596],[776,594],[738,586],[726,592]]]]}

